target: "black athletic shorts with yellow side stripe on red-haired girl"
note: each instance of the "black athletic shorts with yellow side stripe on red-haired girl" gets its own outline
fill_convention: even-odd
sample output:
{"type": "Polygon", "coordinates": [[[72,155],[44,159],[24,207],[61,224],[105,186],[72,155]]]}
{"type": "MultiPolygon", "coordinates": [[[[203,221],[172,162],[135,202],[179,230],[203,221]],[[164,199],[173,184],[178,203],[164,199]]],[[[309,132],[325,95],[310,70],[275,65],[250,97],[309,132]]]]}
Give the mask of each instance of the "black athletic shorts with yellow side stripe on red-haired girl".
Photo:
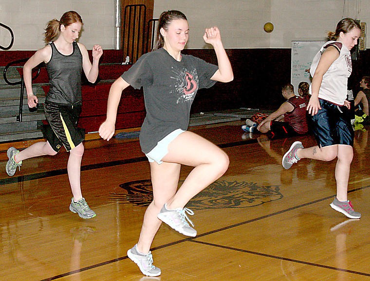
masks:
{"type": "Polygon", "coordinates": [[[44,111],[49,125],[42,126],[42,133],[56,152],[62,144],[70,151],[85,140],[85,130],[77,127],[81,105],[45,102],[44,111]]]}

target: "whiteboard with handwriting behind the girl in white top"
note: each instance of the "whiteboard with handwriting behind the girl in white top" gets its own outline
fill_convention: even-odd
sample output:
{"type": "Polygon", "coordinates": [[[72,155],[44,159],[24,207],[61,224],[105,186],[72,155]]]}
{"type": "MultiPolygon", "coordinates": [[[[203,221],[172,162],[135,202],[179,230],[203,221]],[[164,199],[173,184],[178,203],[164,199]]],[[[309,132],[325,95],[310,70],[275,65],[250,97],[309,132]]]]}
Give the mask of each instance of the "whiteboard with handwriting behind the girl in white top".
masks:
{"type": "Polygon", "coordinates": [[[327,41],[292,41],[292,72],[291,83],[298,95],[298,85],[305,81],[311,84],[309,69],[315,54],[327,41]]]}

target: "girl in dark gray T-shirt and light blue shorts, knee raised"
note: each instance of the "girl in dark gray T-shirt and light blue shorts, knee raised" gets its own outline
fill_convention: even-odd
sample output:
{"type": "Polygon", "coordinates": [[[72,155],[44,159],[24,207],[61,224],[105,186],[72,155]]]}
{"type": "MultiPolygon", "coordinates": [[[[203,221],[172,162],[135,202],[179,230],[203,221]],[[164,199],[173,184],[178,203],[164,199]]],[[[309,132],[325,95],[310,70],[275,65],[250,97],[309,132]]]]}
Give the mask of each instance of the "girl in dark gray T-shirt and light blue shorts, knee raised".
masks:
{"type": "Polygon", "coordinates": [[[217,27],[205,29],[203,39],[215,50],[218,66],[182,54],[189,38],[185,15],[163,12],[159,18],[156,47],[142,55],[111,86],[107,119],[99,128],[100,136],[110,140],[114,134],[117,107],[122,91],[131,85],[144,89],[147,115],[140,131],[140,145],[150,164],[153,201],[144,215],[140,237],[128,250],[129,258],[141,272],[159,276],[153,265],[150,246],[162,222],[176,231],[194,237],[197,231],[185,205],[196,194],[222,176],[229,158],[218,146],[187,131],[190,106],[197,90],[217,81],[233,80],[230,61],[217,27]],[[194,167],[178,189],[181,165],[194,167]],[[189,223],[188,223],[189,221],[189,223]]]}

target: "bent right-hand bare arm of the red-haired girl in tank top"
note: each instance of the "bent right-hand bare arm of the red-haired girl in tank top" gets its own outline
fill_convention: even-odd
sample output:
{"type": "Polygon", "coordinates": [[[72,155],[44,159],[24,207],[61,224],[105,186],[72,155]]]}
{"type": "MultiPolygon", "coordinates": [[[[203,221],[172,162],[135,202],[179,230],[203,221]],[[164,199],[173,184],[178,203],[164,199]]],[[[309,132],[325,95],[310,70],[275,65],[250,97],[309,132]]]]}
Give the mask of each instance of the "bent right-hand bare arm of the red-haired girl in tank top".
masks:
{"type": "Polygon", "coordinates": [[[91,63],[89,53],[87,52],[86,47],[81,43],[77,44],[82,53],[82,67],[85,72],[86,78],[87,80],[89,80],[89,82],[94,83],[98,78],[99,59],[103,54],[103,49],[100,47],[100,45],[94,45],[94,47],[92,47],[92,63],[91,63]]]}

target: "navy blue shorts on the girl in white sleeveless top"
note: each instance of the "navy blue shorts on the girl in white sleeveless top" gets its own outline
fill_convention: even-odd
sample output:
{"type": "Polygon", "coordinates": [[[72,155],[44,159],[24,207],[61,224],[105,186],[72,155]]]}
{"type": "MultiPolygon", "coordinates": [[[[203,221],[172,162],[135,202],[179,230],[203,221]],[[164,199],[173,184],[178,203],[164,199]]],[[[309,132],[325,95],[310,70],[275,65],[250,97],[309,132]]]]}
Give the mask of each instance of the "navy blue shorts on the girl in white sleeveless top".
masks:
{"type": "Polygon", "coordinates": [[[319,147],[346,144],[353,146],[351,112],[346,106],[319,99],[321,109],[311,116],[312,130],[319,147]]]}

